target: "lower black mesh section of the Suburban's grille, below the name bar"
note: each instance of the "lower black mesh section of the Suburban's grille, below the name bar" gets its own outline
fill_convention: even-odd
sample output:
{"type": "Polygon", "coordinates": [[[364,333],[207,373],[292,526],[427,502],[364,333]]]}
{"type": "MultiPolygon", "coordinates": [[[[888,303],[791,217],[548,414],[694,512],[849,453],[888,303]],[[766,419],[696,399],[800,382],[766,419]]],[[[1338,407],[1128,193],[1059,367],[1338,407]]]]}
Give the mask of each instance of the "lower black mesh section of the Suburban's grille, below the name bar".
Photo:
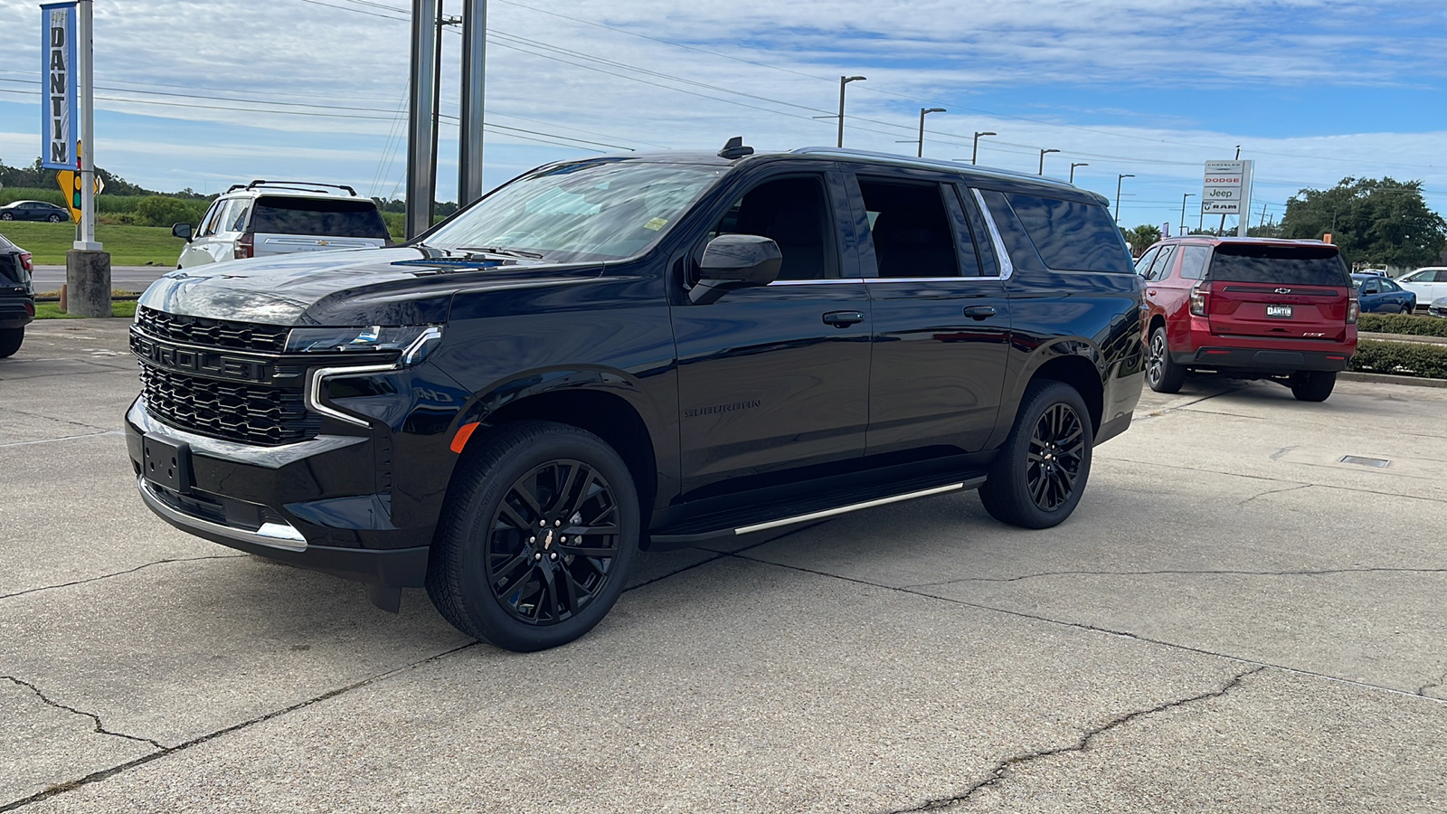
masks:
{"type": "Polygon", "coordinates": [[[140,365],[140,391],[158,420],[204,436],[276,446],[315,437],[301,388],[232,382],[140,365]]]}

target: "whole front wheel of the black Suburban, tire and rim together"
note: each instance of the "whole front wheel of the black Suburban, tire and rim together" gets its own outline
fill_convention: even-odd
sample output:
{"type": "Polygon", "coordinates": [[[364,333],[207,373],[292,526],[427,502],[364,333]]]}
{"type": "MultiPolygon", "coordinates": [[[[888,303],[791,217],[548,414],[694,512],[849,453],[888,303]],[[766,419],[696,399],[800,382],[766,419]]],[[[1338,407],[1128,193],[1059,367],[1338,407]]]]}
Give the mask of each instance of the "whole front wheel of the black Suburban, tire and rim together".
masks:
{"type": "Polygon", "coordinates": [[[427,592],[469,636],[517,652],[557,647],[618,601],[640,530],[632,475],[602,439],[551,421],[504,424],[459,463],[427,592]],[[579,532],[587,546],[569,542],[579,532]]]}

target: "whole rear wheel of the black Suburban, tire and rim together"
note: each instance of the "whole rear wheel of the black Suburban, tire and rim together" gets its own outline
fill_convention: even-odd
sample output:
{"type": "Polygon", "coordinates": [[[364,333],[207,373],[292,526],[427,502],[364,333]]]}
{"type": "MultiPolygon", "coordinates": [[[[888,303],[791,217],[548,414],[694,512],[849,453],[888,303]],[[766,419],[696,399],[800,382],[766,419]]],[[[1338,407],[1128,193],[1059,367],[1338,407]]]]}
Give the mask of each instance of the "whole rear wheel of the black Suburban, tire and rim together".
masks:
{"type": "Polygon", "coordinates": [[[1074,387],[1052,379],[1032,382],[1010,437],[980,487],[980,501],[1001,523],[1058,526],[1085,491],[1094,443],[1090,410],[1074,387]]]}

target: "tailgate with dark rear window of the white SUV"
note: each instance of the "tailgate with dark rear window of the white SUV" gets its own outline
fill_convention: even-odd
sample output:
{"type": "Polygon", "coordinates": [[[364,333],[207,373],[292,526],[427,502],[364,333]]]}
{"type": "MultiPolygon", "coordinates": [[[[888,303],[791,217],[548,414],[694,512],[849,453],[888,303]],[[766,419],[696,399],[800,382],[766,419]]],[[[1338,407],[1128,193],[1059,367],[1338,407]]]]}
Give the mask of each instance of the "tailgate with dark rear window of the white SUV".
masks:
{"type": "Polygon", "coordinates": [[[253,256],[331,249],[365,249],[386,243],[386,225],[368,198],[304,198],[262,196],[250,213],[253,256]]]}

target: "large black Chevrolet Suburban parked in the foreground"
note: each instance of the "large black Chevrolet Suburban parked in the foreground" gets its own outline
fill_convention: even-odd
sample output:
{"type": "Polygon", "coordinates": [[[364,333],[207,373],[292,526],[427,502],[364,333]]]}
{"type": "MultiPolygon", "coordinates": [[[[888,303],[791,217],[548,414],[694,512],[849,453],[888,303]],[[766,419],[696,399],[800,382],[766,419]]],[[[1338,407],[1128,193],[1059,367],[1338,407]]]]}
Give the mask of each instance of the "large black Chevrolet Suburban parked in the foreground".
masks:
{"type": "Polygon", "coordinates": [[[566,161],[405,246],[168,274],[127,446],[179,529],[537,650],[638,549],[972,488],[1061,523],[1140,397],[1133,271],[1104,198],[1033,175],[566,161]]]}

